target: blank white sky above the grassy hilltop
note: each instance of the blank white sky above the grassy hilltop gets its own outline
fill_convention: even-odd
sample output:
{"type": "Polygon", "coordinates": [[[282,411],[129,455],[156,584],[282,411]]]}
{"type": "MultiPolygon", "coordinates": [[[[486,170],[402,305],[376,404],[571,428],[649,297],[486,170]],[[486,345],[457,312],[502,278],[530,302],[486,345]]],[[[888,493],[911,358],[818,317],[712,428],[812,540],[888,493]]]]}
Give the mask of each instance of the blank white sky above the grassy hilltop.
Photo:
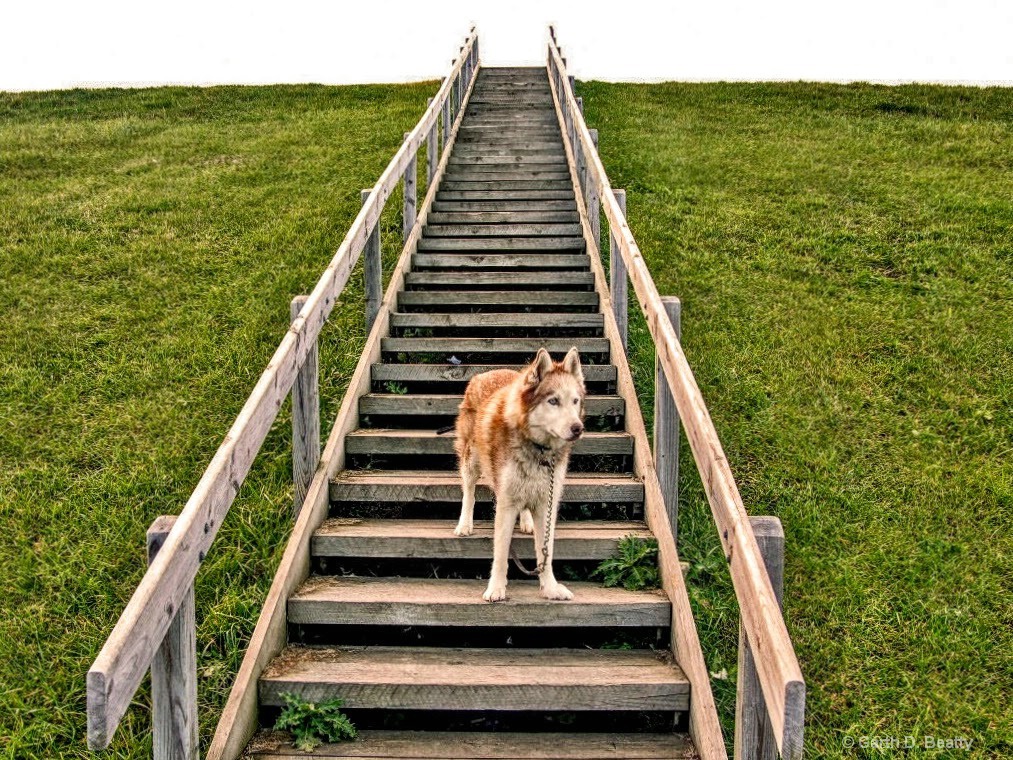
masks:
{"type": "Polygon", "coordinates": [[[586,79],[1013,85],[1013,0],[0,0],[0,90],[431,79],[472,22],[586,79]]]}

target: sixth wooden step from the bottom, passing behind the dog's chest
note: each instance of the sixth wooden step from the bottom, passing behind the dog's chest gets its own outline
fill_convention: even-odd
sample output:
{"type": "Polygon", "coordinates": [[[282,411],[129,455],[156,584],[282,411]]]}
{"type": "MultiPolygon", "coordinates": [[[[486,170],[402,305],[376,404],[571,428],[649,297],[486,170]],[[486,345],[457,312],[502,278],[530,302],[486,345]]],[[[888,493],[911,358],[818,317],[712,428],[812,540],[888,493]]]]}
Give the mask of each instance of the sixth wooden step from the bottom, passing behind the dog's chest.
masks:
{"type": "MultiPolygon", "coordinates": [[[[344,439],[348,454],[377,456],[453,456],[454,436],[431,430],[368,428],[352,431],[344,439]]],[[[585,433],[573,444],[574,456],[631,456],[633,437],[625,432],[585,433]]]]}

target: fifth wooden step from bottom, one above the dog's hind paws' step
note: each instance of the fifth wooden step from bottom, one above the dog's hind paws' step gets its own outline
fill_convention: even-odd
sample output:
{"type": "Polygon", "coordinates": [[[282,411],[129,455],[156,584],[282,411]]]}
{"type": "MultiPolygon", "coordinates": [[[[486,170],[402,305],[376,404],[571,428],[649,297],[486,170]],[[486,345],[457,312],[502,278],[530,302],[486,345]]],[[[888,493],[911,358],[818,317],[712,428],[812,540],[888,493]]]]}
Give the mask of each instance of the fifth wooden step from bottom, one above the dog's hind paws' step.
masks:
{"type": "MultiPolygon", "coordinates": [[[[330,498],[333,502],[460,502],[461,478],[456,472],[433,470],[344,470],[331,484],[330,498]]],[[[491,502],[492,491],[480,482],[475,499],[491,502]]],[[[560,499],[576,504],[639,503],[643,502],[643,483],[632,475],[570,472],[560,499]]]]}

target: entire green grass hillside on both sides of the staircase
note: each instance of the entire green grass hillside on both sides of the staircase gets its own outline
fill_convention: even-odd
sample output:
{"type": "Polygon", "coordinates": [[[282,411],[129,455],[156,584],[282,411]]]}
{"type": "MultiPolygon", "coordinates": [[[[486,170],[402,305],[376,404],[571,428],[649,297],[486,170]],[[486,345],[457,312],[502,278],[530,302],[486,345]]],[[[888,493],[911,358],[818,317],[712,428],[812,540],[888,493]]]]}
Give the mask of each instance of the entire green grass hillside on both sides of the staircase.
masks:
{"type": "MultiPolygon", "coordinates": [[[[145,529],[181,508],[434,90],[0,94],[0,756],[90,756],[84,674],[145,529]]],[[[1013,95],[581,94],[658,288],[683,298],[748,509],[784,522],[809,756],[923,734],[1013,754],[1013,95]]],[[[399,229],[395,209],[385,251],[399,229]]],[[[321,346],[325,421],[362,309],[354,277],[321,346]]],[[[642,322],[631,346],[649,411],[642,322]]],[[[290,526],[289,435],[283,409],[198,577],[205,742],[290,526]]],[[[735,606],[688,452],[682,472],[727,719],[735,606]]],[[[150,756],[147,699],[105,756],[150,756]]]]}

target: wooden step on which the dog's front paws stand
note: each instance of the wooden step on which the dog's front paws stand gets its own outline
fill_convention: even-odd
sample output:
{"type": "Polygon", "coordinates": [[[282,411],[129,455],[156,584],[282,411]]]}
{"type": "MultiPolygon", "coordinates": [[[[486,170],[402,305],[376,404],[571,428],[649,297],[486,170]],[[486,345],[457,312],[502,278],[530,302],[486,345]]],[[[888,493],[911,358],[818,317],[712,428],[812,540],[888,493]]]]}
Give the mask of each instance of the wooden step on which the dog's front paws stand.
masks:
{"type": "MultiPolygon", "coordinates": [[[[491,541],[485,543],[490,551],[482,558],[489,558],[491,541]]],[[[538,581],[512,581],[506,600],[489,604],[482,599],[485,586],[480,580],[315,576],[289,598],[288,619],[297,625],[488,627],[667,627],[672,622],[672,605],[661,591],[568,582],[573,599],[560,604],[539,594],[538,581]]]]}

